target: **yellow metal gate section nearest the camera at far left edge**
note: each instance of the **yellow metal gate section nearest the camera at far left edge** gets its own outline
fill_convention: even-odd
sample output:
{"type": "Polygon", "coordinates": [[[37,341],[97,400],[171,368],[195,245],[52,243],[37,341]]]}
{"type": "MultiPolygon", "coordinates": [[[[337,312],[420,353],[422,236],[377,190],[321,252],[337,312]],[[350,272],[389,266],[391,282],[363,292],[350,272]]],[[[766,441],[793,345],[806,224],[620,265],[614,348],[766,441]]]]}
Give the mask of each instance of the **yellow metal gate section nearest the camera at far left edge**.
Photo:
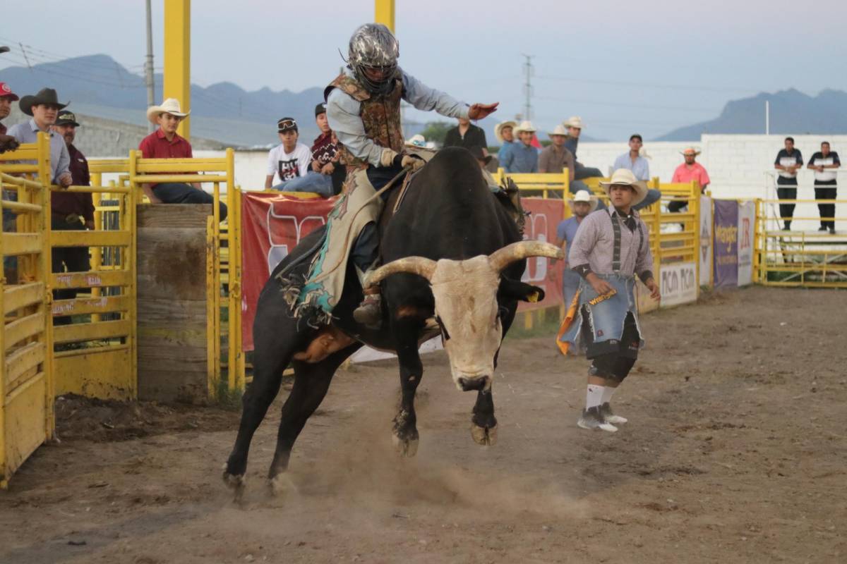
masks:
{"type": "Polygon", "coordinates": [[[36,144],[21,145],[14,157],[34,163],[10,163],[8,155],[0,155],[5,212],[0,237],[4,262],[0,277],[0,489],[8,486],[9,477],[55,429],[53,339],[46,299],[50,272],[45,240],[50,182],[47,137],[39,134],[36,144]]]}

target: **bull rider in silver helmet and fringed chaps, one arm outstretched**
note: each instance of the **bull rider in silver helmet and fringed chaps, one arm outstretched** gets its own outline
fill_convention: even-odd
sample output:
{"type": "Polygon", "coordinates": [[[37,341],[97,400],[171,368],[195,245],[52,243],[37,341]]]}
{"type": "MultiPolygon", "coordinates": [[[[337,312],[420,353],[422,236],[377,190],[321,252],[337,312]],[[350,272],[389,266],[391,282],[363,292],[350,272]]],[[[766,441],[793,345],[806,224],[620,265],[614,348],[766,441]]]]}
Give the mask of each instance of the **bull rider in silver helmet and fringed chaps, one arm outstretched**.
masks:
{"type": "MultiPolygon", "coordinates": [[[[362,25],[350,39],[347,67],[324,90],[329,126],[339,140],[340,162],[347,167],[344,195],[329,213],[327,236],[307,280],[296,289],[296,283],[289,281],[291,291],[285,290],[296,315],[309,311],[319,324],[329,322],[340,298],[347,257],[360,281],[374,268],[379,255],[376,221],[388,190],[399,187],[406,172],[424,166],[424,160],[405,147],[401,100],[447,118],[482,119],[497,109],[496,103],[468,106],[429,88],[397,66],[399,55],[400,45],[385,25],[362,25]]],[[[353,317],[364,325],[379,326],[379,286],[365,293],[353,317]]]]}

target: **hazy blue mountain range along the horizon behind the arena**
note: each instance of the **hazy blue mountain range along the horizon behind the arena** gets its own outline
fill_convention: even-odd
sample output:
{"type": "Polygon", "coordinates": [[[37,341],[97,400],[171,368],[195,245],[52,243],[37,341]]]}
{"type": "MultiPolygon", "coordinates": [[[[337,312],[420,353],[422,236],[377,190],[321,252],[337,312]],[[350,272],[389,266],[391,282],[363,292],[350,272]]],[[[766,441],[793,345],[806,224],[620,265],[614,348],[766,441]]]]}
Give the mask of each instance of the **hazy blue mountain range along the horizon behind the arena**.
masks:
{"type": "MultiPolygon", "coordinates": [[[[330,74],[328,82],[332,79],[330,74]]],[[[147,123],[147,90],[143,76],[131,73],[107,55],[3,68],[0,80],[12,85],[21,96],[35,93],[44,86],[53,87],[58,90],[60,99],[71,101],[70,109],[80,114],[136,125],[147,123]]],[[[161,74],[156,75],[155,82],[160,92],[161,74]]],[[[276,121],[291,116],[300,126],[301,139],[308,144],[318,134],[314,107],[323,96],[323,87],[301,92],[274,91],[267,87],[246,91],[231,82],[207,87],[192,84],[191,133],[242,147],[274,145],[279,142],[276,121]]],[[[160,96],[157,97],[159,101],[160,96]]],[[[770,103],[772,134],[847,133],[847,92],[823,90],[817,96],[808,96],[791,89],[729,101],[717,118],[674,129],[655,140],[697,141],[704,133],[764,133],[765,101],[770,103]]],[[[434,116],[434,119],[444,118],[434,116]]],[[[486,118],[479,123],[492,145],[495,143],[494,124],[499,119],[499,116],[486,118]]],[[[424,127],[424,123],[407,121],[404,133],[410,137],[424,127]]]]}

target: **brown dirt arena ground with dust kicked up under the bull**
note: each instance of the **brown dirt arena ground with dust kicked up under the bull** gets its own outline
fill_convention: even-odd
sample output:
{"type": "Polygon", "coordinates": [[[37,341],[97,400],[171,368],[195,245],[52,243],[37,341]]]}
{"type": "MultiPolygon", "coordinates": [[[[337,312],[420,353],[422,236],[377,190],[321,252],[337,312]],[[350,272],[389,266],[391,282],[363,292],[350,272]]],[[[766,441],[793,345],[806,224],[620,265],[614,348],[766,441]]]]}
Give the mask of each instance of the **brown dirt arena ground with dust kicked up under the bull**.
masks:
{"type": "Polygon", "coordinates": [[[576,426],[586,362],[510,338],[499,443],[429,355],[418,457],[396,457],[396,365],[336,375],[291,463],[241,507],[220,479],[239,413],[59,402],[62,442],[0,492],[0,562],[844,562],[847,292],[761,287],[645,316],[616,434],[576,426]]]}

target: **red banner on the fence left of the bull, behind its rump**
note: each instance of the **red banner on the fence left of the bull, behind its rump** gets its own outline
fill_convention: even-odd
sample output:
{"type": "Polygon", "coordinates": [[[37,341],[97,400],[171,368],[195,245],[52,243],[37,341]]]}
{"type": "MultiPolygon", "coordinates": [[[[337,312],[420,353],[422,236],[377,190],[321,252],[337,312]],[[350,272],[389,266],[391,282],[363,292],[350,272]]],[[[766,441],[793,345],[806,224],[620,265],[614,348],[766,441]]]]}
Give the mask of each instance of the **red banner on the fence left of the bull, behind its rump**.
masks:
{"type": "Polygon", "coordinates": [[[313,229],[326,223],[335,198],[244,192],[241,199],[242,346],[253,349],[256,302],[270,273],[313,229]]]}

